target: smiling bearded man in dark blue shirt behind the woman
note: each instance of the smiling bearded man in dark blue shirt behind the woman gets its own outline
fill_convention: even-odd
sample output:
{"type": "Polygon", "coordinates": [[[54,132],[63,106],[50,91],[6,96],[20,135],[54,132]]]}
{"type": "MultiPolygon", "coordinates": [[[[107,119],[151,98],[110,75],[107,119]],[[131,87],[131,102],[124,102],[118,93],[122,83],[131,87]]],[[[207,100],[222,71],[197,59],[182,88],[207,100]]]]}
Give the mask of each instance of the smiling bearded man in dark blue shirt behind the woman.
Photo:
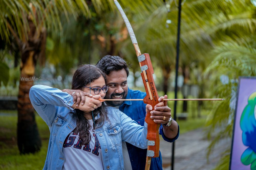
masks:
{"type": "MultiPolygon", "coordinates": [[[[98,61],[96,66],[99,67],[107,77],[106,85],[109,86],[109,89],[106,92],[105,99],[143,99],[146,96],[145,92],[128,88],[127,77],[129,75],[129,67],[126,61],[121,57],[104,56],[98,61]]],[[[164,98],[167,98],[167,95],[160,97],[159,100],[161,101],[164,98]]],[[[145,121],[146,108],[152,110],[152,107],[150,105],[146,106],[143,101],[105,101],[105,103],[108,106],[119,108],[120,111],[142,126],[145,121]]],[[[164,101],[163,107],[154,108],[154,110],[151,111],[151,115],[154,122],[162,124],[159,129],[159,134],[162,135],[165,141],[173,142],[178,138],[179,126],[176,121],[172,120],[171,109],[167,106],[167,101],[164,101]],[[166,120],[164,118],[166,118],[166,120]]],[[[147,149],[140,149],[125,142],[123,142],[122,145],[125,169],[145,169],[147,149]]],[[[159,153],[158,158],[152,158],[150,169],[162,169],[161,153],[159,153]]]]}

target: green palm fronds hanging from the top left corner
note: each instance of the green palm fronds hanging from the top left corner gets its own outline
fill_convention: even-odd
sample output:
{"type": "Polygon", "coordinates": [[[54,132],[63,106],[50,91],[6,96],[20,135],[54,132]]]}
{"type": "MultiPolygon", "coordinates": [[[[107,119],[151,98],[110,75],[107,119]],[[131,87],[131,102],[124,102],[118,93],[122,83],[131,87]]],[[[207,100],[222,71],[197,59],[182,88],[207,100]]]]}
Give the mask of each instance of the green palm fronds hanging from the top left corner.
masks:
{"type": "Polygon", "coordinates": [[[62,29],[60,20],[62,12],[66,19],[69,20],[68,14],[75,18],[80,12],[87,15],[88,5],[80,0],[4,0],[0,2],[0,11],[0,35],[2,39],[9,41],[10,35],[16,32],[18,37],[24,40],[24,38],[27,38],[29,30],[27,15],[29,15],[38,29],[45,27],[47,30],[58,34],[59,30],[62,29]],[[23,37],[24,35],[25,37],[23,37]]]}

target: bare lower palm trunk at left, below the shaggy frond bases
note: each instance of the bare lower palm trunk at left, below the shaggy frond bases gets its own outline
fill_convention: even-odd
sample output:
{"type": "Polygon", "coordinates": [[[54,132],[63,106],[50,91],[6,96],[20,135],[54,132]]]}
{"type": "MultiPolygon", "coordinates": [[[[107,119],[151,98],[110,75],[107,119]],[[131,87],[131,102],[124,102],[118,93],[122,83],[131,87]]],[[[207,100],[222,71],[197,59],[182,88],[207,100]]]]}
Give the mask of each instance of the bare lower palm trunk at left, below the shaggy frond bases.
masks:
{"type": "Polygon", "coordinates": [[[35,153],[41,148],[41,139],[35,121],[34,108],[29,99],[30,87],[34,84],[32,79],[35,73],[33,56],[34,51],[22,54],[22,58],[27,58],[27,60],[25,63],[22,61],[20,68],[17,142],[21,154],[35,153]]]}

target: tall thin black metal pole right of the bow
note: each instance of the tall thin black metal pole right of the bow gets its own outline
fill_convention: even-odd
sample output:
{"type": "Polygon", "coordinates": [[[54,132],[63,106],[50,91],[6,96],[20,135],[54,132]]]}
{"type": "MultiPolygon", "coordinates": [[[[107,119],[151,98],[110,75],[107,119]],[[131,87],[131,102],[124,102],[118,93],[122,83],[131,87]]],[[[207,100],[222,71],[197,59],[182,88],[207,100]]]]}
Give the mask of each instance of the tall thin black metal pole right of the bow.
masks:
{"type": "MultiPolygon", "coordinates": [[[[178,91],[178,68],[179,68],[179,39],[180,39],[180,18],[181,18],[181,0],[179,0],[179,11],[178,11],[178,27],[177,27],[177,45],[176,45],[176,71],[175,71],[175,99],[177,99],[178,91]]],[[[177,101],[174,101],[174,120],[176,120],[177,101]]],[[[172,170],[174,170],[174,148],[175,141],[173,142],[172,148],[172,170]]]]}

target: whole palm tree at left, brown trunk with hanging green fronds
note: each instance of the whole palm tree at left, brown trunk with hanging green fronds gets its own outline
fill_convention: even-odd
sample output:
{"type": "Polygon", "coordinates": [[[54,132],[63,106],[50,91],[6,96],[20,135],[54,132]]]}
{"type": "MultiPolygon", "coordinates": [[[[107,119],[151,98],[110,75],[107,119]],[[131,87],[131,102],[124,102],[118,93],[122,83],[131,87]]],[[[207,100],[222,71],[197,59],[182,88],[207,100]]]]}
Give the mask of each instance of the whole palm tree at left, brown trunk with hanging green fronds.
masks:
{"type": "Polygon", "coordinates": [[[88,15],[83,1],[1,1],[0,35],[6,44],[14,43],[20,55],[20,83],[18,94],[17,141],[20,153],[40,150],[41,140],[35,122],[34,109],[29,100],[29,89],[37,60],[44,64],[47,32],[58,35],[60,16],[74,17],[78,11],[88,15]]]}

